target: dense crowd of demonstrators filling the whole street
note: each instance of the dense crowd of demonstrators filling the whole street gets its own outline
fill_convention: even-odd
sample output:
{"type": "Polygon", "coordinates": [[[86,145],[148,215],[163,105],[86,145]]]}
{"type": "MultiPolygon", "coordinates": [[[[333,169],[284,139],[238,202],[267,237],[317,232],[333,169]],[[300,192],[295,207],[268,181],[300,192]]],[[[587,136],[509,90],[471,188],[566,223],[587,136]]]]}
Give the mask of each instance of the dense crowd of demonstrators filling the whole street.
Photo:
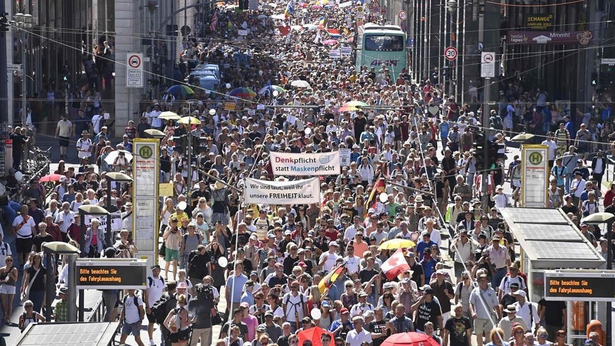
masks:
{"type": "MultiPolygon", "coordinates": [[[[605,105],[601,119],[589,112],[563,114],[547,102],[547,92],[525,91],[515,81],[502,86],[498,110],[483,124],[474,103],[458,105],[430,78],[415,84],[407,70],[393,76],[386,65],[357,69],[352,56],[330,58],[331,47],[355,44],[356,10],[355,4],[342,8],[328,1],[261,2],[258,11],[218,7],[209,22],[197,25],[198,36],[183,42],[173,76],[181,82],[197,65],[212,63],[220,66],[220,88],[195,86],[189,100],[172,94],[160,100],[144,97],[140,116],[116,145],[100,116],[95,95],[100,78],[92,76],[93,94],[83,104],[74,99],[74,114],[57,125],[62,158],[76,150],[79,166],[60,161],[57,183],[46,187],[33,177],[27,203],[9,204],[17,254],[2,251],[0,244],[0,263],[6,263],[0,268],[4,321],[22,271],[21,291],[29,300],[20,328],[44,321],[44,280],[55,272],[61,300],[55,320],[66,321],[65,260],[46,263],[40,255],[43,244],[65,241],[92,258],[127,258],[139,251],[130,221],[133,184],[110,182],[106,173],[133,175],[126,156],[132,140],[158,129],[166,136],[160,182],[173,185],[173,195],[156,215],[162,265],[151,268],[142,294],[102,292],[105,320],[115,321],[122,305],[121,343],[133,334],[143,345],[140,329],[146,318],[150,345],[158,342],[155,328],[161,329],[164,345],[199,340],[216,346],[293,346],[300,340],[311,345],[314,340],[308,342],[301,332],[314,327],[323,330],[320,344],[335,346],[378,346],[392,334],[415,331],[445,346],[565,345],[566,305],[530,301],[514,236],[499,214],[519,203],[520,159],[515,156],[509,165],[504,155],[496,159],[483,189],[483,170],[476,165],[482,153],[475,152],[474,143],[488,135],[502,144],[504,154],[510,135],[536,134],[549,146],[549,206],[561,207],[606,258],[603,230],[579,219],[600,207],[611,151],[610,106],[605,105]],[[325,45],[330,29],[335,42],[325,45]],[[237,39],[239,30],[247,35],[237,39]],[[295,87],[293,81],[309,86],[295,87]],[[267,86],[284,91],[228,95],[237,87],[260,91],[267,86]],[[350,101],[383,108],[339,109],[350,101]],[[229,102],[234,110],[226,108],[229,102]],[[433,106],[436,114],[427,111],[433,106]],[[163,111],[191,115],[200,123],[159,118],[163,111]],[[245,178],[280,180],[270,153],[342,148],[351,150],[349,163],[341,174],[322,177],[322,203],[242,203],[245,178]],[[507,185],[512,193],[504,192],[507,185]],[[488,198],[482,198],[483,191],[488,198]],[[81,219],[78,208],[84,204],[119,214],[121,228],[113,230],[112,243],[106,220],[81,219]],[[402,246],[405,269],[391,280],[383,266],[399,252],[381,246],[396,239],[415,245],[402,246]],[[445,261],[452,272],[445,270],[445,261]],[[226,311],[217,308],[221,298],[226,311]],[[216,324],[222,326],[219,335],[212,332],[216,324]]],[[[366,20],[380,19],[370,15],[366,20]]],[[[96,66],[85,62],[90,76],[96,66]]],[[[15,138],[21,131],[15,128],[15,138]]],[[[27,137],[20,138],[25,145],[27,137]]],[[[15,155],[20,154],[14,151],[14,162],[20,162],[15,155]]],[[[615,214],[614,191],[615,185],[603,206],[615,214]]],[[[598,345],[597,336],[588,342],[598,345]]]]}

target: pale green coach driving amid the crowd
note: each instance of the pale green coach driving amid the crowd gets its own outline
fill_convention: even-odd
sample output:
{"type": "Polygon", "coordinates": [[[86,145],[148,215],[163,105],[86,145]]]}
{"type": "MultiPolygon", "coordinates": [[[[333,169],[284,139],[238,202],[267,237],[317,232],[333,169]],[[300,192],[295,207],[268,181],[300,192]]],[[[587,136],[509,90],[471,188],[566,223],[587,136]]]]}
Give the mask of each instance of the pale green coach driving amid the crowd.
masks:
{"type": "Polygon", "coordinates": [[[407,66],[406,44],[406,33],[399,26],[365,23],[357,40],[357,71],[361,66],[378,71],[384,64],[395,81],[407,66]]]}

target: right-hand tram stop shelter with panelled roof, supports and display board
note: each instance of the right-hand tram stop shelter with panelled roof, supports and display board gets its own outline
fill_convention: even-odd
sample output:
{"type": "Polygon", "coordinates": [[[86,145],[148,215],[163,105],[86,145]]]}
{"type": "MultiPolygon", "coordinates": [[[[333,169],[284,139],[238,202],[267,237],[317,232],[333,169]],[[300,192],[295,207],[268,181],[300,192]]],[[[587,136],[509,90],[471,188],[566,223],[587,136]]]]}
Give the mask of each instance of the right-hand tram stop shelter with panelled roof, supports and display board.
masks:
{"type": "Polygon", "coordinates": [[[605,302],[615,300],[615,275],[565,212],[509,207],[501,214],[520,245],[515,250],[528,276],[529,300],[566,302],[569,344],[583,344],[591,320],[606,331],[611,309],[605,302]]]}

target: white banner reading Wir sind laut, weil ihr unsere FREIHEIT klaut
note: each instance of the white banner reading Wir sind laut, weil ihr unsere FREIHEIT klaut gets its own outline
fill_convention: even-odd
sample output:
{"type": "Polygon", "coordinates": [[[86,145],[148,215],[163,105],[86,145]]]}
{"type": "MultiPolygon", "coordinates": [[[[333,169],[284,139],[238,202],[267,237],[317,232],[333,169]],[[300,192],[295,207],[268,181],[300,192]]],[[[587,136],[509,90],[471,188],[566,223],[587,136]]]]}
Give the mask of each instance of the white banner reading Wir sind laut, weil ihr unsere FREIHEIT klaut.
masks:
{"type": "Polygon", "coordinates": [[[320,203],[320,183],[318,178],[283,182],[246,178],[244,198],[247,204],[320,203]]]}

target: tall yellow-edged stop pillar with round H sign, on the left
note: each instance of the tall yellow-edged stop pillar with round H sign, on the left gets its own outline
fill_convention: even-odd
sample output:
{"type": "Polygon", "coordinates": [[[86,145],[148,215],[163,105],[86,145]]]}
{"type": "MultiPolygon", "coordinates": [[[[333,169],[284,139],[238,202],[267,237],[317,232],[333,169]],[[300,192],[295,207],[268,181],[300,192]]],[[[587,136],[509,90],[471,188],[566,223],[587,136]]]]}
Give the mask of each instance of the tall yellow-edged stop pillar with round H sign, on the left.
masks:
{"type": "Polygon", "coordinates": [[[158,256],[158,163],[157,139],[135,139],[133,142],[134,184],[132,188],[132,229],[139,248],[138,257],[154,265],[158,256]]]}

